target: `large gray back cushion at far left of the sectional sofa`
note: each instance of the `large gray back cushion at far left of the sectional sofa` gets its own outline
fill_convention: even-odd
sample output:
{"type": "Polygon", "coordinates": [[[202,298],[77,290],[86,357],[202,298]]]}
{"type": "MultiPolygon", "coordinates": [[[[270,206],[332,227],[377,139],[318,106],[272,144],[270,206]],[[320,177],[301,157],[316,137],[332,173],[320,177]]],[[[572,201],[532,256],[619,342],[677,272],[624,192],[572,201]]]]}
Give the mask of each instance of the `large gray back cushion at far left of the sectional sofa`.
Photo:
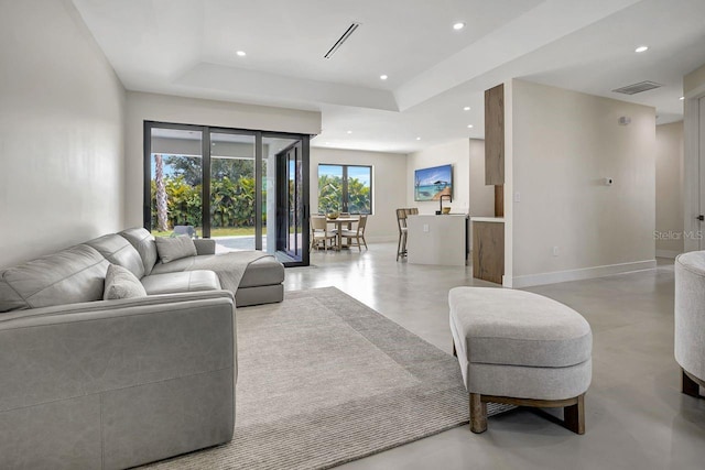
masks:
{"type": "Polygon", "coordinates": [[[0,273],[0,311],[100,300],[109,264],[79,244],[7,269],[0,273]]]}

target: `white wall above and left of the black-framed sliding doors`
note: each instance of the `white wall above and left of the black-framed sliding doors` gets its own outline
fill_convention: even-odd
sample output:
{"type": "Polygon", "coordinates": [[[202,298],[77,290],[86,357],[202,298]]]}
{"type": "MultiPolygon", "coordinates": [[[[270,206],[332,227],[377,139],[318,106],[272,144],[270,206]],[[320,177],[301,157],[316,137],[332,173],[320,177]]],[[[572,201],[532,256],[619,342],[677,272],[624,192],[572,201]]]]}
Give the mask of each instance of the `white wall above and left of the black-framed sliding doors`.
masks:
{"type": "Polygon", "coordinates": [[[126,132],[126,223],[142,226],[144,121],[321,133],[321,112],[129,91],[126,132]]]}

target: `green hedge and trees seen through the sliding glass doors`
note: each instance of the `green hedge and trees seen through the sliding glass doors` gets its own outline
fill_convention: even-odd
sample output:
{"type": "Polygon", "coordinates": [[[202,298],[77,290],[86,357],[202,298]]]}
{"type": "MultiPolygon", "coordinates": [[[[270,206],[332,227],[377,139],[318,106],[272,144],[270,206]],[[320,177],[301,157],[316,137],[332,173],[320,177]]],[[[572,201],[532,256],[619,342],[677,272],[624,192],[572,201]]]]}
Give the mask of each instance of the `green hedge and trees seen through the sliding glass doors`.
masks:
{"type": "MultiPolygon", "coordinates": [[[[167,156],[172,172],[164,176],[169,227],[203,225],[200,160],[167,156]]],[[[254,175],[250,161],[214,159],[210,185],[210,225],[214,229],[254,228],[254,175]]],[[[156,182],[151,182],[152,227],[158,227],[156,182]]],[[[263,197],[267,197],[265,195],[263,197]]],[[[264,220],[265,222],[265,220],[264,220]]]]}

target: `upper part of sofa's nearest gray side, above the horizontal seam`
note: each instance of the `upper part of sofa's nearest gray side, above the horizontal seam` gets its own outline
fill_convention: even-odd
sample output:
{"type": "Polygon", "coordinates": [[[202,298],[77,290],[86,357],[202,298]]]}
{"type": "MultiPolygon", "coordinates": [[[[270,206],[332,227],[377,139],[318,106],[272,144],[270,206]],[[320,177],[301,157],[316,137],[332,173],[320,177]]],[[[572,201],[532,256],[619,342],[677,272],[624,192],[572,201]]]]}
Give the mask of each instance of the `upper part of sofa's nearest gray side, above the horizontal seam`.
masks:
{"type": "Polygon", "coordinates": [[[0,412],[210,371],[237,375],[227,291],[0,316],[0,412]]]}

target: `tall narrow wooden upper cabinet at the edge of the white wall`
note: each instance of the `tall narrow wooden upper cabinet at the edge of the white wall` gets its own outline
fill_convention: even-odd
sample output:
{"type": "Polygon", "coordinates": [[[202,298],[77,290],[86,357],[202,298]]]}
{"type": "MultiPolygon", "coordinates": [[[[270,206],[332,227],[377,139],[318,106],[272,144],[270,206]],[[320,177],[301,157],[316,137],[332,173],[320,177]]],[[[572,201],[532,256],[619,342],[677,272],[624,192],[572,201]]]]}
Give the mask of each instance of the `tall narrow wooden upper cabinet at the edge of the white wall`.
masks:
{"type": "Polygon", "coordinates": [[[485,90],[485,184],[505,184],[505,85],[485,90]]]}

